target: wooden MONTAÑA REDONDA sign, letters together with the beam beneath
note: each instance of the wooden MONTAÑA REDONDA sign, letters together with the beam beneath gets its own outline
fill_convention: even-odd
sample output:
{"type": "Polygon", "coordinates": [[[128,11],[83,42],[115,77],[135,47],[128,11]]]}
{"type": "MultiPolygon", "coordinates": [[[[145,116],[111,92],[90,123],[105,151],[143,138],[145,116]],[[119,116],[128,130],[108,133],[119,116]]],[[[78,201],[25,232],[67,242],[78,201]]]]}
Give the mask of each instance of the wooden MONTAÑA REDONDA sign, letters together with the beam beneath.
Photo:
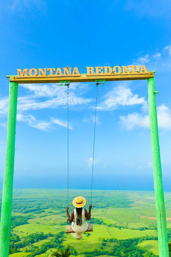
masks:
{"type": "Polygon", "coordinates": [[[154,77],[154,72],[148,72],[145,65],[140,68],[137,65],[128,66],[96,66],[86,67],[87,73],[80,74],[77,67],[66,66],[65,68],[31,68],[17,69],[16,76],[8,76],[10,81],[17,83],[52,83],[66,80],[70,82],[106,81],[112,80],[135,80],[154,77]]]}

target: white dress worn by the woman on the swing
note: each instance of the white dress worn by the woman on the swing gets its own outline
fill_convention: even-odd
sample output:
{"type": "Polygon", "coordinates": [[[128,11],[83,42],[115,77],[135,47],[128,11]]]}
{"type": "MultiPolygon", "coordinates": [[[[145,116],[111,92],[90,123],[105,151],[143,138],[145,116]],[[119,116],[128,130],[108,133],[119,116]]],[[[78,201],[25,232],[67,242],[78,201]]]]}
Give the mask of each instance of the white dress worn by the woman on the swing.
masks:
{"type": "Polygon", "coordinates": [[[74,222],[72,222],[71,227],[72,230],[75,231],[76,233],[71,233],[72,236],[76,238],[81,238],[83,232],[85,232],[88,228],[88,223],[85,222],[85,212],[84,209],[82,210],[82,225],[76,225],[75,223],[77,222],[77,212],[76,209],[74,209],[74,222]]]}

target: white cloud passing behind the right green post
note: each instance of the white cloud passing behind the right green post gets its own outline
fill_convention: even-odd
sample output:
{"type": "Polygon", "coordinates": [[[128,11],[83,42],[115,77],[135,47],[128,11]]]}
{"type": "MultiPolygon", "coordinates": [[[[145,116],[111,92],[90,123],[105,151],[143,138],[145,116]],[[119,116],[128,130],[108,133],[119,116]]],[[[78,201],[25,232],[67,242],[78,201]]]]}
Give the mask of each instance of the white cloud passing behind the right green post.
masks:
{"type": "MultiPolygon", "coordinates": [[[[171,111],[165,105],[157,107],[157,120],[158,127],[163,130],[171,130],[171,111]]],[[[127,130],[139,126],[143,128],[149,128],[149,115],[132,113],[127,116],[120,116],[120,122],[127,130]]]]}

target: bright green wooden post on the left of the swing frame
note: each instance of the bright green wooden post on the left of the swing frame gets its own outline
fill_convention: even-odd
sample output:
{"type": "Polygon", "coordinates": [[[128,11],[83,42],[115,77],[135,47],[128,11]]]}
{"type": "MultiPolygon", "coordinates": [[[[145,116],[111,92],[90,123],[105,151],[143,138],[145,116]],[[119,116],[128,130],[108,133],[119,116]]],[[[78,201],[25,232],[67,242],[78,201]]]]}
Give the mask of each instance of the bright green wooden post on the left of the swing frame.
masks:
{"type": "Polygon", "coordinates": [[[0,256],[9,256],[18,83],[9,83],[9,105],[0,224],[0,256]]]}

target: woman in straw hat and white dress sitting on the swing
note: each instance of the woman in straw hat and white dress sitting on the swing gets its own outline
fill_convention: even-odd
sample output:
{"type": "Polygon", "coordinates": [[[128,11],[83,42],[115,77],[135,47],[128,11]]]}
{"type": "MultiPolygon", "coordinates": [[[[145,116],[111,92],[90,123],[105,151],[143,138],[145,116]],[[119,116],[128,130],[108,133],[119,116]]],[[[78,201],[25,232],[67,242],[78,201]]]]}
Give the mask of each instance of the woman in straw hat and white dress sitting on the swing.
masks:
{"type": "Polygon", "coordinates": [[[78,240],[82,238],[83,232],[85,232],[88,228],[87,220],[91,218],[91,208],[92,204],[89,206],[89,210],[87,212],[86,209],[82,207],[86,204],[86,199],[82,196],[77,196],[73,200],[73,205],[76,209],[72,210],[71,216],[69,215],[69,207],[66,208],[67,218],[70,223],[72,223],[71,227],[75,233],[71,233],[78,240]],[[86,218],[86,219],[85,219],[86,218]]]}

